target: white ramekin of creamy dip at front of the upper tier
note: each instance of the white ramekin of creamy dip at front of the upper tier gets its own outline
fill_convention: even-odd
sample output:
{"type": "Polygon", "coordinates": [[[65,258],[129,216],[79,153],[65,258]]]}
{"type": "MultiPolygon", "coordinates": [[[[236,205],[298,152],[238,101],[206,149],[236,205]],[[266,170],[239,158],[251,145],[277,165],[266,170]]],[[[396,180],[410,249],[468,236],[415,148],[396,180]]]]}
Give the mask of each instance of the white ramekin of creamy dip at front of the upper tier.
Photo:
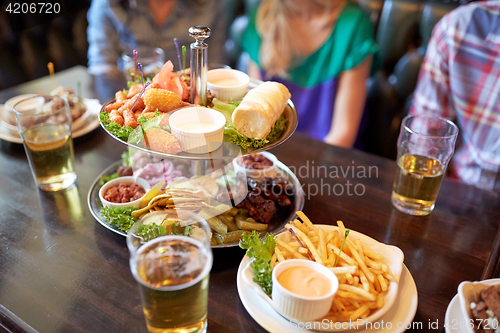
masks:
{"type": "Polygon", "coordinates": [[[192,154],[204,154],[217,150],[224,140],[226,117],[219,111],[204,107],[189,107],[174,112],[168,119],[173,136],[182,150],[192,154]],[[187,127],[199,127],[203,123],[210,128],[190,131],[187,127]]]}

